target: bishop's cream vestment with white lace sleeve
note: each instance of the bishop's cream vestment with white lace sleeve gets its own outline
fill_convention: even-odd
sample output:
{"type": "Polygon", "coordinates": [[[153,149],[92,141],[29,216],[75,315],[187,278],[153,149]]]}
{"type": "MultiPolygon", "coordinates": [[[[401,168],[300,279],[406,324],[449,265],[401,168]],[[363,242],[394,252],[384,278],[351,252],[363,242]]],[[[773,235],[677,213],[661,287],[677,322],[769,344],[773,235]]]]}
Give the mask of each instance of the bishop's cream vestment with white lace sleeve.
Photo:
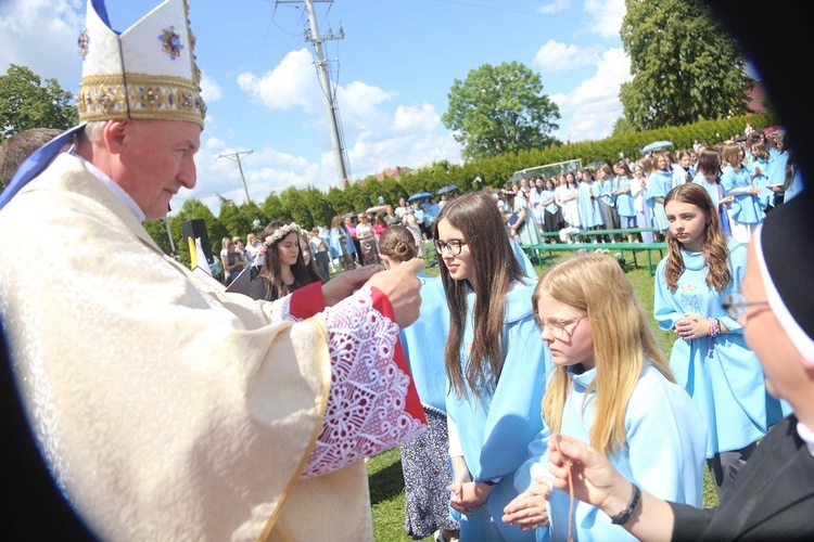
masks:
{"type": "Polygon", "coordinates": [[[0,211],[0,310],[25,410],[58,483],[97,534],[372,540],[358,460],[421,423],[404,411],[411,384],[391,357],[383,393],[402,412],[384,420],[403,427],[378,450],[368,440],[330,449],[338,426],[376,403],[359,406],[358,388],[336,385],[338,366],[370,356],[338,365],[334,343],[367,334],[361,350],[392,354],[398,332],[358,294],[343,301],[364,311],[349,334],[331,327],[341,304],[269,325],[262,302],[217,292],[166,257],[67,154],[0,211]],[[13,257],[35,233],[47,258],[13,257]],[[331,462],[340,468],[329,472],[331,462]]]}

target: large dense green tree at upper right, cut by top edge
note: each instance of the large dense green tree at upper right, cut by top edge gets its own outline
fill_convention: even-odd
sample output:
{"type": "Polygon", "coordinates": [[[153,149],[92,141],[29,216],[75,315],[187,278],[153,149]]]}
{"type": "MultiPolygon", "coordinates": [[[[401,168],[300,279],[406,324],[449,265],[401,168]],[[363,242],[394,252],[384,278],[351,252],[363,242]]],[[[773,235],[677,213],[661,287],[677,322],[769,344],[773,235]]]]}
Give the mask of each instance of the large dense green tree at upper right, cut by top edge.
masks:
{"type": "Polygon", "coordinates": [[[702,0],[625,0],[622,44],[633,80],[624,116],[638,130],[748,111],[747,56],[702,0]]]}

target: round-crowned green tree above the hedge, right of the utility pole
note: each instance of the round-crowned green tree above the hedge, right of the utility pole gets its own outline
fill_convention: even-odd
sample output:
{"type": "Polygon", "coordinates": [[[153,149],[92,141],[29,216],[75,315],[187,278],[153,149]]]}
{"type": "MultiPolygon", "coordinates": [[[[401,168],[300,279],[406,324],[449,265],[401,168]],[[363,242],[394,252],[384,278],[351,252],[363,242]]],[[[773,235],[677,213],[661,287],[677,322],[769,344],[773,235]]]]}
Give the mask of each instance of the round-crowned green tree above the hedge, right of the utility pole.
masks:
{"type": "Polygon", "coordinates": [[[543,94],[539,75],[523,64],[484,64],[465,81],[455,79],[447,96],[449,109],[442,120],[463,143],[466,159],[557,143],[550,132],[559,128],[560,109],[543,94]]]}

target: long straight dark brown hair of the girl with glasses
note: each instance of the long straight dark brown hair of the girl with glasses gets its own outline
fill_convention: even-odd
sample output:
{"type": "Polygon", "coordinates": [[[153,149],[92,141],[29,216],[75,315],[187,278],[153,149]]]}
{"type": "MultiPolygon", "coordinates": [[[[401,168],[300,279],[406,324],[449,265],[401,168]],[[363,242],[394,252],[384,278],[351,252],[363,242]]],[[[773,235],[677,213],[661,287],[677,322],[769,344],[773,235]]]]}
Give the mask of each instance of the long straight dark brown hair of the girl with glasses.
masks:
{"type": "Polygon", "coordinates": [[[449,337],[444,349],[446,374],[459,397],[468,397],[486,386],[497,385],[500,375],[506,293],[513,281],[524,276],[511,249],[500,212],[492,197],[484,192],[471,192],[447,203],[432,224],[438,238],[438,223],[447,220],[460,230],[474,264],[475,287],[469,281],[456,281],[449,275],[441,255],[438,269],[449,305],[449,337]],[[474,289],[474,330],[469,359],[461,366],[461,348],[468,307],[467,294],[474,289]]]}

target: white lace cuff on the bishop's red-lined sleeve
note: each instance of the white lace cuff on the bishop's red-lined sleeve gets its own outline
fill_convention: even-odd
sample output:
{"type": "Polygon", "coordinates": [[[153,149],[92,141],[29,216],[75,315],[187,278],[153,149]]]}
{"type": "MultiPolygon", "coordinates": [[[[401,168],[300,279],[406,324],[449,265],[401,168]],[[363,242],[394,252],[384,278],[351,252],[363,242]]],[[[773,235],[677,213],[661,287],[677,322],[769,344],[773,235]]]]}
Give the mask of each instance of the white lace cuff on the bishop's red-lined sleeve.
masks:
{"type": "Polygon", "coordinates": [[[327,308],[323,315],[332,384],[304,478],[393,448],[424,427],[405,412],[410,377],[393,360],[398,325],[373,308],[370,287],[327,308]]]}

